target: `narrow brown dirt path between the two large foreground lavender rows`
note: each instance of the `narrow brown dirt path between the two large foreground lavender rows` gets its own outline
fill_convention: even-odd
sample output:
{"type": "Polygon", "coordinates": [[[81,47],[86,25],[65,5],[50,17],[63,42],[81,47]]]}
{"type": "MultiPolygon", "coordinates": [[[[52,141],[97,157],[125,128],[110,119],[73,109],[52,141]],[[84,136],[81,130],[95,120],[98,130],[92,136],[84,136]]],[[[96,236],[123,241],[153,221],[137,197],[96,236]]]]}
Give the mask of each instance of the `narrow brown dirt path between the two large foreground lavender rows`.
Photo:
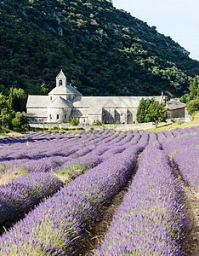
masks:
{"type": "Polygon", "coordinates": [[[123,197],[124,195],[126,195],[128,191],[128,187],[132,183],[134,175],[138,170],[140,154],[138,155],[137,165],[134,169],[134,174],[131,180],[128,182],[126,187],[124,187],[115,196],[115,198],[113,199],[113,201],[111,201],[109,205],[103,207],[102,212],[104,212],[104,214],[103,216],[101,216],[101,218],[97,220],[97,223],[89,230],[86,230],[85,237],[82,243],[80,244],[80,249],[77,251],[77,255],[79,256],[92,255],[92,251],[94,250],[94,248],[98,247],[100,241],[103,240],[106,231],[109,229],[109,226],[111,225],[111,220],[113,218],[113,215],[117,211],[117,208],[121,205],[123,201],[123,197]]]}

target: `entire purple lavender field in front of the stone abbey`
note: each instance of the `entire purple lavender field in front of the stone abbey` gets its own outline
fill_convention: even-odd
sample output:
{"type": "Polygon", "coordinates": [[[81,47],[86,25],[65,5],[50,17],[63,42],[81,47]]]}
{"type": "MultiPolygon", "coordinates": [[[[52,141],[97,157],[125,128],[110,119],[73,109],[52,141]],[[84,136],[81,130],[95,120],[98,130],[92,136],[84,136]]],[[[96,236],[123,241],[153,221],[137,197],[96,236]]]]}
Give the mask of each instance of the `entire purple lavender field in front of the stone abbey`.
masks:
{"type": "Polygon", "coordinates": [[[2,138],[0,255],[197,255],[185,189],[198,195],[199,126],[2,138]]]}

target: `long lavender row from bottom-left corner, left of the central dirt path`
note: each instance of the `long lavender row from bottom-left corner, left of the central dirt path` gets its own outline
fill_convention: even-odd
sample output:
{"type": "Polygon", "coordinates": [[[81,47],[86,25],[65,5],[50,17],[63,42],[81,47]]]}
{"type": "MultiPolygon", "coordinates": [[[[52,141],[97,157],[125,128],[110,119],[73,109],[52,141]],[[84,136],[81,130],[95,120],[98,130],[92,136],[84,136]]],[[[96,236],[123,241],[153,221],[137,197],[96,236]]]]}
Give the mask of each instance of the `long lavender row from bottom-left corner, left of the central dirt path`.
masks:
{"type": "MultiPolygon", "coordinates": [[[[130,142],[129,142],[130,143],[130,142]]],[[[85,228],[94,223],[101,206],[131,177],[137,152],[148,143],[130,143],[99,166],[65,185],[43,201],[0,239],[0,255],[76,255],[85,228]]]]}

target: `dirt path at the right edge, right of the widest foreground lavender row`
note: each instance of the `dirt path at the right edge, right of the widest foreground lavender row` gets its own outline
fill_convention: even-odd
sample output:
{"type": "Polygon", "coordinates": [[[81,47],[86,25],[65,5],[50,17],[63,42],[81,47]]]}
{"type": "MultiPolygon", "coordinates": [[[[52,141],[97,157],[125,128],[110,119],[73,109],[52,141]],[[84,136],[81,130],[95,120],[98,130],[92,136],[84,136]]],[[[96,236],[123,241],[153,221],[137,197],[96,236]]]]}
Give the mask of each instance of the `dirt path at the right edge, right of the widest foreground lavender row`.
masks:
{"type": "MultiPolygon", "coordinates": [[[[171,161],[172,162],[172,161],[171,161]]],[[[173,164],[173,172],[179,179],[183,190],[182,203],[188,221],[188,236],[185,238],[183,250],[185,256],[199,255],[199,193],[185,184],[176,165],[173,164]]]]}

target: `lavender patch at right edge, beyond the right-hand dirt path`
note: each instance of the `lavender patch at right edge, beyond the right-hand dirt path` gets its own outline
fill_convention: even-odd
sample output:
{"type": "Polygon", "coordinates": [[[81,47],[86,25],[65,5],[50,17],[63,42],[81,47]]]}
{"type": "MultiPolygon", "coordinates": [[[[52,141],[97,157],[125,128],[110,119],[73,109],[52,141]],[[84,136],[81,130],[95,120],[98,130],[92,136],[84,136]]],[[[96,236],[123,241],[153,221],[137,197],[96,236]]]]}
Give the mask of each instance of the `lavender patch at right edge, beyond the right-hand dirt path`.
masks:
{"type": "Polygon", "coordinates": [[[199,190],[199,127],[174,131],[164,131],[166,138],[159,139],[163,150],[179,170],[185,184],[199,190]]]}

